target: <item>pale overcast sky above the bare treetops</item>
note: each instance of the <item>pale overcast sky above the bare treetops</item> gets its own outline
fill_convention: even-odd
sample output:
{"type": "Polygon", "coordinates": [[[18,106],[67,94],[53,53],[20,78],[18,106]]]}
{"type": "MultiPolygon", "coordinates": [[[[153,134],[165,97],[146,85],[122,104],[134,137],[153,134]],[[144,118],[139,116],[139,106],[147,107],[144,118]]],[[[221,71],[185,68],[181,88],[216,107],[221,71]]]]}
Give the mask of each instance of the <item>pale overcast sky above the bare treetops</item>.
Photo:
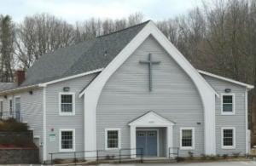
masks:
{"type": "Polygon", "coordinates": [[[26,15],[49,13],[70,23],[91,17],[120,19],[135,12],[145,20],[164,20],[201,4],[201,0],[0,0],[0,14],[20,21],[26,15]]]}

